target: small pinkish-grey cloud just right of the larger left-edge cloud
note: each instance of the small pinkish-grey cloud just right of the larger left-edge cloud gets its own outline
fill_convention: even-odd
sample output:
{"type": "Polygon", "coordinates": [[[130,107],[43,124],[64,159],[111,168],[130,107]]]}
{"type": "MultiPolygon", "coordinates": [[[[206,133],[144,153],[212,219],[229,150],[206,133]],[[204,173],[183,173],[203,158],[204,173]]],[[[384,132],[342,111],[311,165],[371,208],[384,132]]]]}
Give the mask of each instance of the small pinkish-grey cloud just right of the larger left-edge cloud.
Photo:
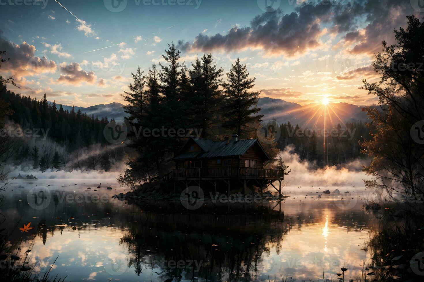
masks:
{"type": "Polygon", "coordinates": [[[93,71],[84,71],[79,63],[70,63],[70,65],[61,66],[63,74],[57,79],[57,82],[65,85],[80,86],[82,83],[94,84],[97,77],[93,71]]]}

